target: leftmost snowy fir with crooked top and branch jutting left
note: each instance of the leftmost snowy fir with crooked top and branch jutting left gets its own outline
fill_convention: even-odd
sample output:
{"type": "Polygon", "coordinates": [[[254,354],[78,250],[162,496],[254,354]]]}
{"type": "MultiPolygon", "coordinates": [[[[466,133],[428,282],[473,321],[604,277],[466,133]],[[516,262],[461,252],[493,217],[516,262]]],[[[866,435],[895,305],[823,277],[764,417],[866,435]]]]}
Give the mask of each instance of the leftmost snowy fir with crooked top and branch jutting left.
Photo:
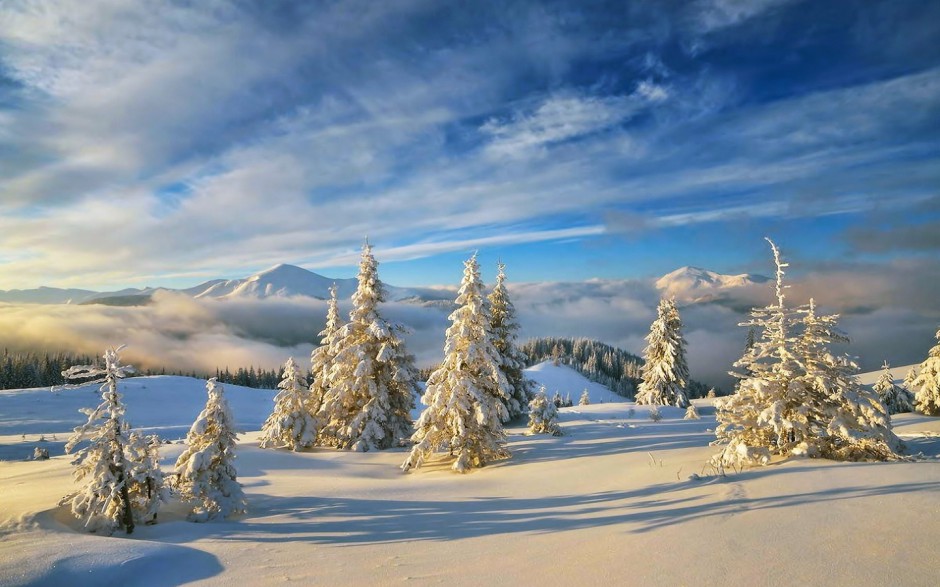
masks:
{"type": "Polygon", "coordinates": [[[110,348],[104,353],[104,367],[76,365],[62,372],[67,381],[100,384],[101,404],[95,409],[83,408],[88,421],[75,428],[65,445],[70,453],[78,444],[88,445],[75,453],[74,479],[81,488],[63,498],[72,514],[93,532],[112,534],[123,529],[134,531],[134,511],[130,498],[127,447],[130,443],[124,425],[124,403],[118,392],[118,380],[134,368],[121,365],[118,352],[124,347],[110,348]],[[91,380],[91,381],[88,381],[91,380]]]}

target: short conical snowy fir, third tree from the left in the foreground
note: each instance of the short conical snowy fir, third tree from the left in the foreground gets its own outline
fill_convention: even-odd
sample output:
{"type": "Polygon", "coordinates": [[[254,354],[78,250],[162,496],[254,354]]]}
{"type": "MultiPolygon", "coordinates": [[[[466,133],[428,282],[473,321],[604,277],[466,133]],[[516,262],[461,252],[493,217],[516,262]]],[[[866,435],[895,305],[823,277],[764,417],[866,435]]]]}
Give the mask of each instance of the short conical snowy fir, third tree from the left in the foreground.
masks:
{"type": "Polygon", "coordinates": [[[213,377],[209,399],[186,435],[186,450],[176,460],[176,489],[192,507],[189,519],[205,522],[245,513],[247,501],[235,468],[235,420],[213,377]]]}

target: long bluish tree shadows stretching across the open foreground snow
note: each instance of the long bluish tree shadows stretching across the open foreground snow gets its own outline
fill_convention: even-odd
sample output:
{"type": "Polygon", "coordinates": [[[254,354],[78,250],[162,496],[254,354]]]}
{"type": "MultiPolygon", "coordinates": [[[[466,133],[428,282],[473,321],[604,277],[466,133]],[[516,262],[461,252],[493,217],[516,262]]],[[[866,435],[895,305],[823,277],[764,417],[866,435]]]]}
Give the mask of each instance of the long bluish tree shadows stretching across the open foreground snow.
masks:
{"type": "Polygon", "coordinates": [[[450,541],[494,534],[564,532],[620,524],[628,526],[625,531],[644,533],[714,516],[940,490],[940,483],[923,482],[880,487],[836,487],[768,497],[749,497],[740,491],[740,481],[745,479],[803,474],[807,469],[822,466],[807,465],[797,469],[768,467],[736,477],[711,477],[626,491],[539,498],[481,497],[432,501],[256,494],[251,498],[252,510],[261,517],[249,514],[237,526],[219,528],[218,536],[246,542],[354,546],[450,541]],[[715,489],[721,486],[728,490],[716,497],[715,489]],[[272,517],[277,519],[271,520],[272,517]]]}

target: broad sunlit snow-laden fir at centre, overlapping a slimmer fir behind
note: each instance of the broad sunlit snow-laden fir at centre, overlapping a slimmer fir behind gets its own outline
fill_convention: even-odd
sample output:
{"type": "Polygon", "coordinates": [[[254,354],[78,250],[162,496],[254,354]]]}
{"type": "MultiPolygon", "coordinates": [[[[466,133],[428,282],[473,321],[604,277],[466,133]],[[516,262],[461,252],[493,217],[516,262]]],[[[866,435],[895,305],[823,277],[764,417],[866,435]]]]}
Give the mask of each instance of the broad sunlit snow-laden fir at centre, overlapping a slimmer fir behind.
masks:
{"type": "Polygon", "coordinates": [[[420,467],[435,451],[456,457],[452,468],[461,473],[510,456],[502,424],[509,384],[493,345],[476,255],[464,263],[456,305],[444,361],[421,398],[427,407],[411,437],[415,445],[402,464],[405,470],[420,467]]]}

